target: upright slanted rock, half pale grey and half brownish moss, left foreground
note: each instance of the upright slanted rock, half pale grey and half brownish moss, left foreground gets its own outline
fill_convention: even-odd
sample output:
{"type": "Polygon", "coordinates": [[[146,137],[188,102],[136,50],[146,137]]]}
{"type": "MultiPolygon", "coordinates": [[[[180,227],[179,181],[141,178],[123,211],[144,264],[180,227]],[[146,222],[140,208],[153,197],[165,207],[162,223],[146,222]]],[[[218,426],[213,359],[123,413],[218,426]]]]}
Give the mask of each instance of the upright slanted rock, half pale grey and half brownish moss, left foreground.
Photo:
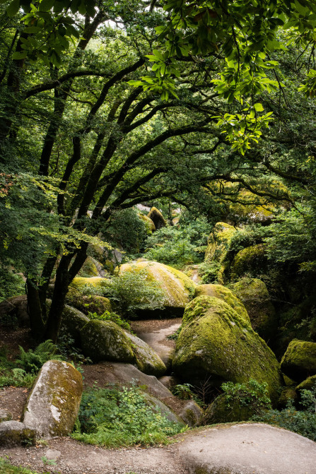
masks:
{"type": "Polygon", "coordinates": [[[82,395],[82,377],[68,362],[49,360],[40,370],[23,422],[37,437],[67,436],[74,428],[82,395]]]}

